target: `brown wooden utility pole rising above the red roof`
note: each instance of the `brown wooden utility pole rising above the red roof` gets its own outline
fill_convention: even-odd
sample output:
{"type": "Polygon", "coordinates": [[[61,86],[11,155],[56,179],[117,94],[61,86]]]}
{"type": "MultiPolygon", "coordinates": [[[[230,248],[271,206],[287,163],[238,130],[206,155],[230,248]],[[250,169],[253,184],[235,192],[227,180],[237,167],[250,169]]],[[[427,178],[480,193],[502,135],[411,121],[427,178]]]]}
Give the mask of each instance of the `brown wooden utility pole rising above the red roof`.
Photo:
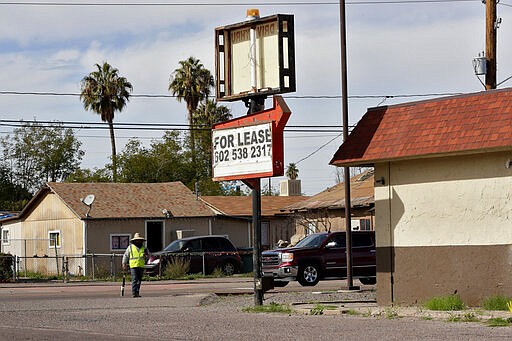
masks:
{"type": "Polygon", "coordinates": [[[487,72],[485,74],[485,89],[496,89],[496,31],[498,21],[496,16],[496,0],[485,2],[485,57],[487,72]]]}

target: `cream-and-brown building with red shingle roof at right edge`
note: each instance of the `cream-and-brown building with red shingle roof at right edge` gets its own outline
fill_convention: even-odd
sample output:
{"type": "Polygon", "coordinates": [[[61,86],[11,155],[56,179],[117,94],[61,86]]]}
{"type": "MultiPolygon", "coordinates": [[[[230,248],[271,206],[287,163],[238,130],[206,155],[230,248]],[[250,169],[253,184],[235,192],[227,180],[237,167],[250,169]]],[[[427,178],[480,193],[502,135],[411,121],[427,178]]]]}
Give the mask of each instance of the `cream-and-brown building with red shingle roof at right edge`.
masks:
{"type": "Polygon", "coordinates": [[[371,108],[331,164],[375,168],[379,304],[512,296],[512,89],[371,108]]]}

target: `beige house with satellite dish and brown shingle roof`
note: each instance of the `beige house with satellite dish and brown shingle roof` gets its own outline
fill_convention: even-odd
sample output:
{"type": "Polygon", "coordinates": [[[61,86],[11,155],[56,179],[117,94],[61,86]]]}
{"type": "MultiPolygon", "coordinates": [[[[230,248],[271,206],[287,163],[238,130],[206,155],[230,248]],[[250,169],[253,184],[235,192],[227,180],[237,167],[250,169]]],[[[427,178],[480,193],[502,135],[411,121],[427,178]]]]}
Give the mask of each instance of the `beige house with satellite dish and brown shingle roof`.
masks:
{"type": "Polygon", "coordinates": [[[2,252],[43,258],[122,253],[136,232],[159,251],[184,234],[212,234],[213,218],[181,182],[48,183],[18,217],[2,221],[2,252]],[[83,199],[92,196],[86,205],[91,200],[83,199]]]}

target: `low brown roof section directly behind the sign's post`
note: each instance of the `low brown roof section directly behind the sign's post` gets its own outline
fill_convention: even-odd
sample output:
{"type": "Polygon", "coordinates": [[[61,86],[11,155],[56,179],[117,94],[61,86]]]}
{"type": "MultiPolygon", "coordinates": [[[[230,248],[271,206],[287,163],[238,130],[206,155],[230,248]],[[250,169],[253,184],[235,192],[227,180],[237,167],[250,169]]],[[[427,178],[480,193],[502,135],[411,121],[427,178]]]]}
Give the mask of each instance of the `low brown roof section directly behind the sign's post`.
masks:
{"type": "MultiPolygon", "coordinates": [[[[265,217],[282,214],[281,211],[288,206],[308,197],[305,196],[261,196],[261,215],[265,217]]],[[[220,213],[228,216],[252,216],[252,196],[203,196],[208,205],[220,213]]]]}

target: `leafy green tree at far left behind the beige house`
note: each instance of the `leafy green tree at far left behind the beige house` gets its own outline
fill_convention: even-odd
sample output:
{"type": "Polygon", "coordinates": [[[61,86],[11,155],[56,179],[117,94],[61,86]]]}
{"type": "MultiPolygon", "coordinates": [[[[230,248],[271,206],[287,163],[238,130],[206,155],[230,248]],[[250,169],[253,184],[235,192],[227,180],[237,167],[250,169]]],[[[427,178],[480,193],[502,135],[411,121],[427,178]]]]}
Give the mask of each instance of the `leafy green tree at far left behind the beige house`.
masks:
{"type": "Polygon", "coordinates": [[[64,181],[78,169],[84,152],[73,130],[61,123],[27,122],[0,140],[1,164],[12,183],[34,193],[48,181],[64,181]]]}

